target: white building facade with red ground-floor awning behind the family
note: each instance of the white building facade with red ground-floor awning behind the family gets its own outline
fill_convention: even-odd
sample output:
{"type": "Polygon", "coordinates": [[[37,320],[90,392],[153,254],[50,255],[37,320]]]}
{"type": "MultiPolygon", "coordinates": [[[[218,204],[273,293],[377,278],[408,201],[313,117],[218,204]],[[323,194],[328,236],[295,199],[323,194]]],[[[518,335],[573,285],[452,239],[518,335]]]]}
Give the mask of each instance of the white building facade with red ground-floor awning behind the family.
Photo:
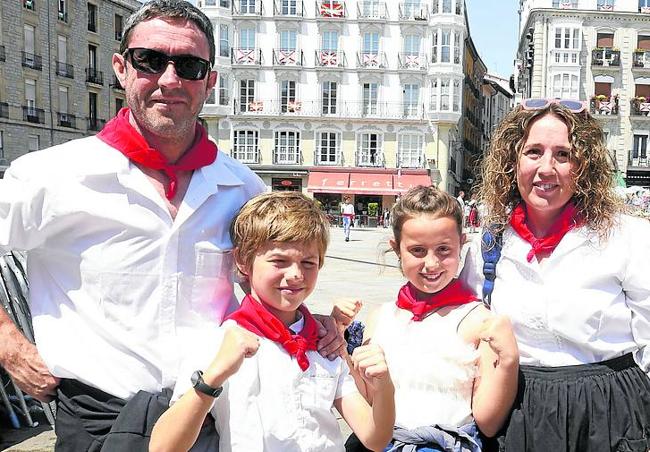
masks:
{"type": "Polygon", "coordinates": [[[271,189],[313,193],[333,210],[350,196],[364,211],[413,185],[455,191],[463,0],[199,7],[215,26],[220,73],[202,117],[271,189]]]}

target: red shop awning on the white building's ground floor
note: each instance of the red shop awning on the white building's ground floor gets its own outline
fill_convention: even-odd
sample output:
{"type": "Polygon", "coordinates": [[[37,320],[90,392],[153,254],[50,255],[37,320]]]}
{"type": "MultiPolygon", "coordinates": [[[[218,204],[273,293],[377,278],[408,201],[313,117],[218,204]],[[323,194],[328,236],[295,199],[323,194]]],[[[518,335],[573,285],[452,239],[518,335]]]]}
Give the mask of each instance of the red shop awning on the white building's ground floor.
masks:
{"type": "Polygon", "coordinates": [[[431,185],[431,178],[427,174],[312,171],[309,173],[307,191],[359,195],[399,195],[417,185],[431,185]]]}

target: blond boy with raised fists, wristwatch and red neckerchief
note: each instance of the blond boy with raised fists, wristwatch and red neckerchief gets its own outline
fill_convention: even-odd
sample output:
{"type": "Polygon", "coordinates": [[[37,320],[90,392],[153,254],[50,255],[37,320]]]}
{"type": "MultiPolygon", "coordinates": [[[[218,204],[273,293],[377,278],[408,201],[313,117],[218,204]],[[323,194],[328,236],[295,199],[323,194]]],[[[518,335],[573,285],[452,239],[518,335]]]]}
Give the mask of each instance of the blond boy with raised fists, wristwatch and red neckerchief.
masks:
{"type": "Polygon", "coordinates": [[[150,450],[188,450],[210,412],[220,452],[343,451],[332,407],[366,447],[383,450],[395,421],[383,351],[359,347],[351,360],[373,394],[371,407],[345,361],[316,351],[316,323],[303,304],[323,266],[327,218],[302,194],[267,193],[242,208],[231,237],[251,293],[224,323],[212,363],[158,420],[150,450]]]}

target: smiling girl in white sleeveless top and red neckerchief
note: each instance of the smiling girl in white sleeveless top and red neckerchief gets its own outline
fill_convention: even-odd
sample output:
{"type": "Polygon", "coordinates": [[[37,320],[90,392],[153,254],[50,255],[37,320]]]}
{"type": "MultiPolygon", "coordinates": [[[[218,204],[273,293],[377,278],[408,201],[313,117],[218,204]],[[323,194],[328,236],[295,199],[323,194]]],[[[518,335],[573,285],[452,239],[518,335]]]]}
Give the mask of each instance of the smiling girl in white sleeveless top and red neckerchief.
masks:
{"type": "Polygon", "coordinates": [[[476,426],[494,435],[517,389],[518,350],[495,317],[455,279],[463,212],[434,187],[415,187],[392,211],[390,241],[408,283],[371,314],[364,343],[379,344],[395,384],[387,450],[480,451],[476,426]]]}

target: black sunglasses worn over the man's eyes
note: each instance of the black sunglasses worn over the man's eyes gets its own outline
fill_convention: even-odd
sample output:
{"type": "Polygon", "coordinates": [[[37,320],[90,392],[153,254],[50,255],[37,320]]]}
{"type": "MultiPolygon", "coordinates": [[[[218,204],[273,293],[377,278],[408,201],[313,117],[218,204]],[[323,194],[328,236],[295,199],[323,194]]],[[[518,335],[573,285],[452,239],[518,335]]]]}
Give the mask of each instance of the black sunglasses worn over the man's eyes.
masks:
{"type": "Polygon", "coordinates": [[[203,80],[210,72],[210,62],[193,55],[167,55],[157,50],[135,47],[124,52],[124,58],[131,61],[136,71],[146,74],[160,74],[171,61],[176,74],[186,80],[203,80]]]}

